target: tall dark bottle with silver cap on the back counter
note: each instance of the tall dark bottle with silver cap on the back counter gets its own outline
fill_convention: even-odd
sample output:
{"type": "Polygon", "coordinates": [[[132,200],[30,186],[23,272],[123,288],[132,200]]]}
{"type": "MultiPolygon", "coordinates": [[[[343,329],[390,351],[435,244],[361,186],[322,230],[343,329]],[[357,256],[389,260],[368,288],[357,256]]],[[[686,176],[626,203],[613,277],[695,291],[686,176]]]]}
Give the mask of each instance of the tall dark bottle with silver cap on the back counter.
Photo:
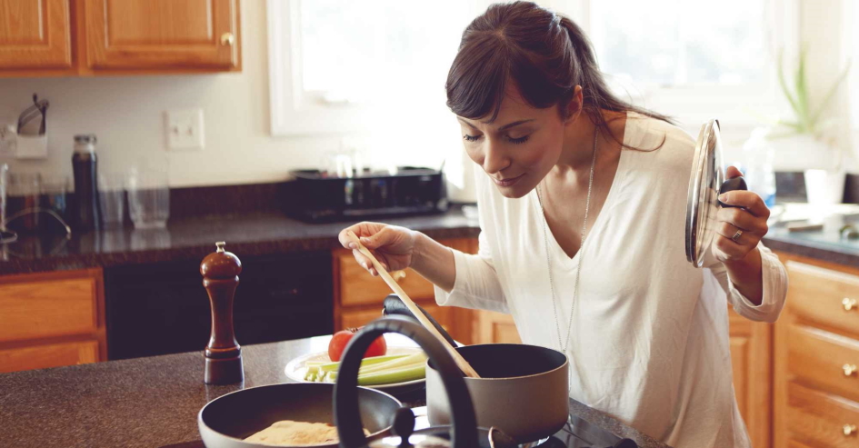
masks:
{"type": "Polygon", "coordinates": [[[74,222],[77,230],[99,230],[101,213],[98,204],[98,161],[95,158],[95,134],[75,135],[72,172],[75,175],[77,207],[74,222]]]}

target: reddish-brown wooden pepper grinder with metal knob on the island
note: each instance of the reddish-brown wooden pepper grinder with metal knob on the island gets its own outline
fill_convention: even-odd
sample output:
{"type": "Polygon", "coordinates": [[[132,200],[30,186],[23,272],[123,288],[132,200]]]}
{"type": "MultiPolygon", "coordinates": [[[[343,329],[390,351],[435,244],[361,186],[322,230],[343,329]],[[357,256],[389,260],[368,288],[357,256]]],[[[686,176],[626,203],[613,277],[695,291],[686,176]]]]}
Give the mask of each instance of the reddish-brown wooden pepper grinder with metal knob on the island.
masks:
{"type": "Polygon", "coordinates": [[[242,349],[233,333],[233,297],[238,286],[242,262],[224,250],[225,243],[215,243],[217,251],[208,254],[200,264],[203,286],[212,305],[212,336],[205,347],[206,384],[231,384],[245,381],[242,349]]]}

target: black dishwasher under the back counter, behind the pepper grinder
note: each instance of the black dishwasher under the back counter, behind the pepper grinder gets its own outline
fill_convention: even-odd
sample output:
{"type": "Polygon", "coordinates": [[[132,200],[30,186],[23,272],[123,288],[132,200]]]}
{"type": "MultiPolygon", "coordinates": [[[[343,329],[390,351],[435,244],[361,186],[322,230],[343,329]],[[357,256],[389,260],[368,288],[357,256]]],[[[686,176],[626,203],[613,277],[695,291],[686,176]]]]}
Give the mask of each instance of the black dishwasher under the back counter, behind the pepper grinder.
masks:
{"type": "MultiPolygon", "coordinates": [[[[334,330],[330,252],[243,256],[233,304],[240,345],[334,330]]],[[[203,351],[211,331],[200,260],[105,268],[108,359],[203,351]]]]}

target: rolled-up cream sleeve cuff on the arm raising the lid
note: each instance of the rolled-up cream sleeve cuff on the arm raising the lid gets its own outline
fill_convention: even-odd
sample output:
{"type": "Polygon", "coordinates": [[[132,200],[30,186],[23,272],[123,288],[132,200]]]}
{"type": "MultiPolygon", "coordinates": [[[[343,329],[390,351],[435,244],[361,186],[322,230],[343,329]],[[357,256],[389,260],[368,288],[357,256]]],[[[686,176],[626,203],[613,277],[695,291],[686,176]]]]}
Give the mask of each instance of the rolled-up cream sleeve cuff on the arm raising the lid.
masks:
{"type": "Polygon", "coordinates": [[[734,306],[737,314],[747,319],[759,322],[774,323],[784,308],[787,297],[787,270],[778,260],[778,255],[769,250],[764,244],[758,244],[761,251],[761,270],[764,286],[764,297],[761,304],[753,304],[743,293],[736,289],[731,282],[724,264],[715,263],[709,266],[719,284],[727,294],[728,302],[734,306]]]}

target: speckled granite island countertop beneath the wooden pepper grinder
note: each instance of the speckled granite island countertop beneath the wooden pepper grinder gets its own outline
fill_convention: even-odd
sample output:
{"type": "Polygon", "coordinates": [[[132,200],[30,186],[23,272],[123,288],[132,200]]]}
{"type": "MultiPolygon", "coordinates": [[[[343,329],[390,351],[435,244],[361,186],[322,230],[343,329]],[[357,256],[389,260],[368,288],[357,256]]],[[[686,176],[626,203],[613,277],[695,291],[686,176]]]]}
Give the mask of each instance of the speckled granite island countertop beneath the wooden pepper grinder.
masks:
{"type": "MultiPolygon", "coordinates": [[[[242,388],[289,383],[286,363],[324,351],[327,341],[246,345],[245,382],[234,385],[203,383],[202,351],[3,373],[0,446],[199,447],[196,417],[205,403],[242,388]]],[[[571,400],[571,413],[642,448],[665,446],[582,403],[571,400]]]]}

